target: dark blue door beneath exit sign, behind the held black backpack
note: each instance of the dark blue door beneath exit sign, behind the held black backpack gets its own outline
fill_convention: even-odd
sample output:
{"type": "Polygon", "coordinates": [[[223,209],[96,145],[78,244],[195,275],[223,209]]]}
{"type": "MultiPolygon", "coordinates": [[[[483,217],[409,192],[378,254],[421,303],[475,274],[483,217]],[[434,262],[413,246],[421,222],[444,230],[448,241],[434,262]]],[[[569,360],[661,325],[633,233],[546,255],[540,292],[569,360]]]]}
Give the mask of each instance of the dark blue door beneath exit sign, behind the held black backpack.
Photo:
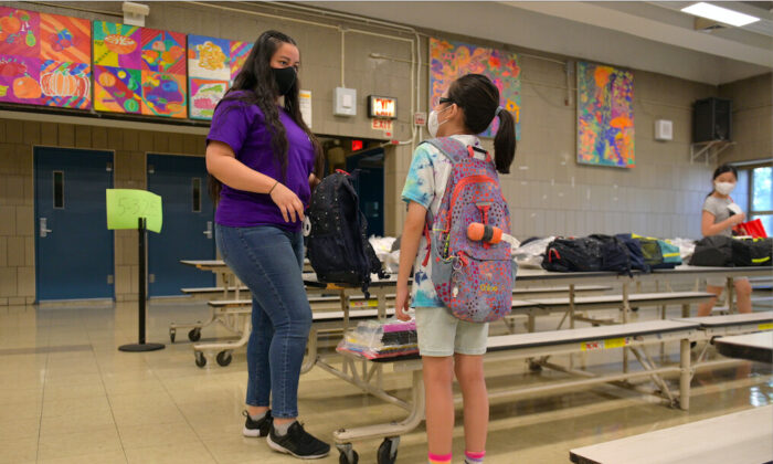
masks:
{"type": "Polygon", "coordinates": [[[377,148],[347,158],[347,171],[359,169],[354,188],[368,219],[368,235],[384,234],[384,150],[377,148]]]}

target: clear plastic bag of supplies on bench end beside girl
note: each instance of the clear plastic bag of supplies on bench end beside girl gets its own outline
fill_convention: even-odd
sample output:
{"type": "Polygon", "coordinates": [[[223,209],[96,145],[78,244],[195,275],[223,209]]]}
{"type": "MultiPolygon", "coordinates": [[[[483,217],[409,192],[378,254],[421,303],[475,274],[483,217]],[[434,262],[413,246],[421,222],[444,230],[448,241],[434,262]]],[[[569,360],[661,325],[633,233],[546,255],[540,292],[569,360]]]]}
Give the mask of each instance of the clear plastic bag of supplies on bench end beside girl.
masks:
{"type": "Polygon", "coordinates": [[[347,331],[336,348],[368,359],[391,358],[419,352],[416,321],[386,320],[361,321],[347,331]]]}

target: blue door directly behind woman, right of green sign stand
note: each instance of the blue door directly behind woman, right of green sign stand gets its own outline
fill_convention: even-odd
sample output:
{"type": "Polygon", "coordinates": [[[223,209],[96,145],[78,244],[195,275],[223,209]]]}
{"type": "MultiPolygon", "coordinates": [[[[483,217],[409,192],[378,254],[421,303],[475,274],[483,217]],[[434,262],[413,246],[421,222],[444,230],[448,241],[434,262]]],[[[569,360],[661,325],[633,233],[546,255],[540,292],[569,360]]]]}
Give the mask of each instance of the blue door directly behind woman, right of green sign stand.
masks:
{"type": "Polygon", "coordinates": [[[204,158],[148,155],[148,191],[161,196],[161,233],[148,232],[150,296],[182,295],[180,288],[214,286],[210,272],[180,260],[214,260],[214,207],[204,158]]]}

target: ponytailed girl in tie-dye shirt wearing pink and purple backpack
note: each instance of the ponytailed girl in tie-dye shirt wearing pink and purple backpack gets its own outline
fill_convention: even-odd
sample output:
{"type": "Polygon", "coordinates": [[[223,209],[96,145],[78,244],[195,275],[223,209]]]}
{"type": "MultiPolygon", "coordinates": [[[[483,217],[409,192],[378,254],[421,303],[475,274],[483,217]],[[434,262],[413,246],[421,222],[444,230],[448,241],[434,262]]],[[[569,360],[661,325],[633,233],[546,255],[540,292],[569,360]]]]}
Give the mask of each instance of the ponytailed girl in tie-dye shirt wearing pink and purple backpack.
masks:
{"type": "Polygon", "coordinates": [[[509,313],[515,268],[508,244],[465,235],[472,222],[490,225],[484,241],[494,228],[509,233],[509,211],[496,172],[508,173],[515,158],[515,119],[499,106],[499,91],[488,77],[467,74],[435,102],[427,128],[433,139],[414,151],[402,192],[407,215],[396,315],[410,318],[407,281],[413,268],[410,306],[416,310],[423,361],[428,461],[451,462],[455,373],[464,396],[465,463],[477,464],[484,461],[488,428],[483,370],[488,320],[509,313]],[[476,134],[495,117],[499,129],[491,159],[476,134]]]}

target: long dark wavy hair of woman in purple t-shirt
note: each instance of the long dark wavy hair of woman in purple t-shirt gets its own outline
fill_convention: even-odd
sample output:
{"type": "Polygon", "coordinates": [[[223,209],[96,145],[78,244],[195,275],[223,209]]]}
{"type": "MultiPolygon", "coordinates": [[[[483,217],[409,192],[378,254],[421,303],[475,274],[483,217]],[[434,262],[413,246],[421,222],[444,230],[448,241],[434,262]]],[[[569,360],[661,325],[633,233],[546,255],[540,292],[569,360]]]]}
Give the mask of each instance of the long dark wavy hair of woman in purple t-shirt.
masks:
{"type": "MultiPolygon", "coordinates": [[[[266,127],[272,137],[272,147],[276,162],[279,165],[282,180],[287,180],[287,133],[285,126],[279,120],[279,109],[276,106],[276,98],[279,96],[279,89],[274,80],[274,73],[271,67],[271,60],[274,53],[282,46],[283,43],[297,44],[287,34],[278,31],[266,31],[261,34],[255,41],[252,51],[244,61],[244,66],[236,75],[231,88],[225,96],[220,101],[239,101],[247,105],[257,105],[263,112],[266,127]],[[241,91],[241,92],[240,92],[241,91]]],[[[285,110],[293,118],[295,124],[300,127],[308,136],[315,152],[314,172],[317,178],[321,177],[325,167],[325,158],[322,147],[319,140],[304,123],[300,117],[300,107],[298,105],[298,91],[300,82],[295,80],[289,93],[285,95],[285,110]]],[[[220,105],[218,103],[218,105],[220,105]]],[[[233,108],[231,106],[227,109],[233,108]]],[[[226,109],[226,110],[227,110],[226,109]]],[[[209,190],[212,200],[216,203],[220,200],[220,191],[223,184],[214,176],[209,176],[209,190]]]]}

